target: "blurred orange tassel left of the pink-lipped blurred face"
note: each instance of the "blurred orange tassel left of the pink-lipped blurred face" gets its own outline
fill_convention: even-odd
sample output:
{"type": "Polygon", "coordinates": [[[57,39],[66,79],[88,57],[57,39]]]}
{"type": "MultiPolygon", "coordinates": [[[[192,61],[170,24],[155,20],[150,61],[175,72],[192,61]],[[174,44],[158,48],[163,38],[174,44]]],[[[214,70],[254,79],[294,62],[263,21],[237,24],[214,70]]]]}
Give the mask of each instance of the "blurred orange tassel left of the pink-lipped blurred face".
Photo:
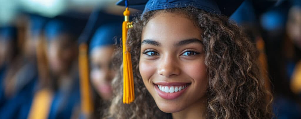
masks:
{"type": "Polygon", "coordinates": [[[86,117],[93,114],[93,100],[89,83],[88,68],[88,45],[82,43],[79,45],[79,75],[80,75],[80,94],[81,94],[81,110],[86,117]]]}

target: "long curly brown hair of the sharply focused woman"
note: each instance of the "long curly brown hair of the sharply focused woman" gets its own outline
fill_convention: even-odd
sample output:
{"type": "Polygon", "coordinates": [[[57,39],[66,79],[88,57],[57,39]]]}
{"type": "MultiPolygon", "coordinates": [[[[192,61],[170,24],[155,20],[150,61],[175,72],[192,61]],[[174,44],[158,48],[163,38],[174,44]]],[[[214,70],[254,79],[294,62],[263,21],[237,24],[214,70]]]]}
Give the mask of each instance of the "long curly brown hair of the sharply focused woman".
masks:
{"type": "Polygon", "coordinates": [[[228,17],[207,13],[195,7],[154,10],[137,16],[128,31],[127,45],[132,55],[135,101],[123,104],[122,48],[115,62],[120,72],[112,81],[113,100],[108,117],[172,118],[160,111],[139,73],[141,32],[158,14],[177,13],[202,29],[209,86],[206,91],[206,118],[267,119],[272,117],[272,94],[265,89],[258,66],[257,50],[242,30],[228,17]]]}

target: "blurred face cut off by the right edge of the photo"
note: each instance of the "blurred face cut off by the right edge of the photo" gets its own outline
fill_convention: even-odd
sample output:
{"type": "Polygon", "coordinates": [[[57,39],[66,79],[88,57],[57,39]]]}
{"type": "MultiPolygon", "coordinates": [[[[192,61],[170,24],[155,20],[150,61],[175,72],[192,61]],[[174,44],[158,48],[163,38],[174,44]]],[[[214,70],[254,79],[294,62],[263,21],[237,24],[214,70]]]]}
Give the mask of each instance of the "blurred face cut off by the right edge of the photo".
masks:
{"type": "Polygon", "coordinates": [[[301,49],[301,8],[292,7],[289,12],[289,18],[287,22],[287,33],[301,49]]]}

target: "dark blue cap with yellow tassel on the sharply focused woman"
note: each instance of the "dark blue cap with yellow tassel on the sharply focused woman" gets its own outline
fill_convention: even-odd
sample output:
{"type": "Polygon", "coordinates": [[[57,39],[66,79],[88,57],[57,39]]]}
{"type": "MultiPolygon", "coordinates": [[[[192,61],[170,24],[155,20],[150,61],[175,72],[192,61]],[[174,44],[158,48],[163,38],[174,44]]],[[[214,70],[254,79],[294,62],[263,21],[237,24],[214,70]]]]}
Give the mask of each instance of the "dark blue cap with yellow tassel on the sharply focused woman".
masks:
{"type": "Polygon", "coordinates": [[[126,45],[127,30],[132,27],[129,22],[129,7],[143,10],[145,12],[152,10],[163,10],[169,8],[196,7],[208,13],[223,14],[231,16],[231,14],[240,6],[243,0],[120,0],[116,4],[125,6],[123,12],[123,103],[131,103],[135,99],[134,78],[132,71],[131,54],[126,45]]]}

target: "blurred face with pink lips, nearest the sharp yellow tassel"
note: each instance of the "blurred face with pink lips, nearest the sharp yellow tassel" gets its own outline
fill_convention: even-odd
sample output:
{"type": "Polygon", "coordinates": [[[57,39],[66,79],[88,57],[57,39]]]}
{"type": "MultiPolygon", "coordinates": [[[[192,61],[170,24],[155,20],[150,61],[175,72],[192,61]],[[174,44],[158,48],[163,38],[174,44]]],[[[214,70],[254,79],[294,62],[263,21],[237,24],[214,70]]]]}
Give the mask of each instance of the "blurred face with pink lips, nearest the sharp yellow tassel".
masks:
{"type": "Polygon", "coordinates": [[[91,53],[91,81],[97,93],[104,100],[110,100],[112,95],[111,80],[115,72],[112,70],[114,46],[98,47],[91,53]]]}

